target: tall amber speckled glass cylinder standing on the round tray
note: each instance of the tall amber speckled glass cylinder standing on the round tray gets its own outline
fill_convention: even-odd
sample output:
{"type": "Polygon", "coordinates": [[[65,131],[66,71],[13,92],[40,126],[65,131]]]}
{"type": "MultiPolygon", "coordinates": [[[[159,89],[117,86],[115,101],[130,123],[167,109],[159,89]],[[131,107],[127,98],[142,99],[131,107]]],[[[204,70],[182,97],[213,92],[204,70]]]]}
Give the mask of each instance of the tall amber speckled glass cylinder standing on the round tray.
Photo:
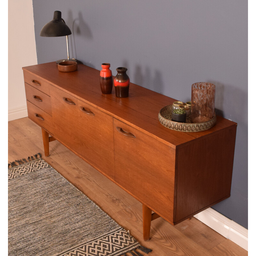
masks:
{"type": "Polygon", "coordinates": [[[203,123],[214,117],[215,85],[211,83],[192,84],[191,122],[203,123]]]}

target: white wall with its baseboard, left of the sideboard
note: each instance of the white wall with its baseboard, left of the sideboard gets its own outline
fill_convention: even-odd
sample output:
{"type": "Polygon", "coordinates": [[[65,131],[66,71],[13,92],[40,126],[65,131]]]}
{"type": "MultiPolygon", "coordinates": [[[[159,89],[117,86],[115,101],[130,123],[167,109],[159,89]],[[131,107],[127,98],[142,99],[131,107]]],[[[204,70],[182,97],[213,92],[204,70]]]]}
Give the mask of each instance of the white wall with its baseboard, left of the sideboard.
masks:
{"type": "Polygon", "coordinates": [[[32,0],[9,0],[8,121],[28,116],[22,67],[36,64],[32,0]]]}

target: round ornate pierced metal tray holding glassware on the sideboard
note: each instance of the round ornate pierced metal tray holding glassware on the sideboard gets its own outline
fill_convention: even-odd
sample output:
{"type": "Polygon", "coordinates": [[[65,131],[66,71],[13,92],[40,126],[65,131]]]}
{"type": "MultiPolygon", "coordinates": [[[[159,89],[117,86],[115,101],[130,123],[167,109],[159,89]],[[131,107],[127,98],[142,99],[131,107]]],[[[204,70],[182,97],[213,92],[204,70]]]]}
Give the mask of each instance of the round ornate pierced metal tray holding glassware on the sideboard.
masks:
{"type": "Polygon", "coordinates": [[[186,118],[186,123],[174,122],[172,121],[172,105],[161,108],[158,119],[164,127],[179,132],[202,132],[216,124],[216,115],[211,120],[203,123],[191,123],[190,117],[186,118]]]}

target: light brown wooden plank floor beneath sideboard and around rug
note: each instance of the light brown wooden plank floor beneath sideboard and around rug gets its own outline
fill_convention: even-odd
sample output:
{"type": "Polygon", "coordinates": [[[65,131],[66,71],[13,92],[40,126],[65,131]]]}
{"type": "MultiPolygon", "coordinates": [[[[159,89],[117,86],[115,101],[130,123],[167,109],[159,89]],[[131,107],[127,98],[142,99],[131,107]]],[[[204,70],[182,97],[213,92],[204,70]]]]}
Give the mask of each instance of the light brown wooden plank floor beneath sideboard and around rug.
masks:
{"type": "Polygon", "coordinates": [[[42,158],[84,192],[117,223],[130,231],[150,256],[244,256],[248,252],[196,218],[172,226],[162,218],[152,221],[151,239],[142,239],[142,204],[58,141],[50,142],[44,156],[41,128],[26,118],[8,122],[8,163],[41,153],[42,158]]]}

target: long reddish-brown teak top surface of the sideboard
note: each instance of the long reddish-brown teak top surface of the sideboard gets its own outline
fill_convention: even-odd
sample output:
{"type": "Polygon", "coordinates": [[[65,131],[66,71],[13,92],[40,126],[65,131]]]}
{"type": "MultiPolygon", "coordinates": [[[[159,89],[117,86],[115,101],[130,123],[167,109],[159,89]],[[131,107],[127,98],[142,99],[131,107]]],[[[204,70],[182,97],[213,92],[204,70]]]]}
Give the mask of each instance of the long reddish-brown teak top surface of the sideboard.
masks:
{"type": "Polygon", "coordinates": [[[203,132],[178,132],[160,124],[158,113],[161,108],[171,105],[175,99],[130,83],[129,97],[117,98],[115,88],[111,94],[100,90],[100,71],[78,64],[77,71],[60,72],[56,62],[23,67],[30,73],[40,76],[50,84],[91,104],[95,108],[131,125],[132,127],[168,144],[172,148],[180,147],[190,141],[210,136],[213,132],[228,129],[235,122],[217,116],[217,123],[203,132]]]}

